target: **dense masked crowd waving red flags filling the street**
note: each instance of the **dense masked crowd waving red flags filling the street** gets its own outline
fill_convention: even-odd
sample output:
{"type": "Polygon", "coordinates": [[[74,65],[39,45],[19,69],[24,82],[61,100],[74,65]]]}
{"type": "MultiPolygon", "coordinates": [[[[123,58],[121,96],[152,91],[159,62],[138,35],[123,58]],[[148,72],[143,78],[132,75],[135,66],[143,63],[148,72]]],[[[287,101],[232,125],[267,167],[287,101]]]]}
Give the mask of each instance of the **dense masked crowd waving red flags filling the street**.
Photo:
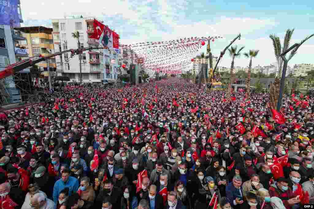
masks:
{"type": "Polygon", "coordinates": [[[298,209],[314,200],[312,97],[177,78],[65,86],[0,114],[3,209],[298,209]]]}

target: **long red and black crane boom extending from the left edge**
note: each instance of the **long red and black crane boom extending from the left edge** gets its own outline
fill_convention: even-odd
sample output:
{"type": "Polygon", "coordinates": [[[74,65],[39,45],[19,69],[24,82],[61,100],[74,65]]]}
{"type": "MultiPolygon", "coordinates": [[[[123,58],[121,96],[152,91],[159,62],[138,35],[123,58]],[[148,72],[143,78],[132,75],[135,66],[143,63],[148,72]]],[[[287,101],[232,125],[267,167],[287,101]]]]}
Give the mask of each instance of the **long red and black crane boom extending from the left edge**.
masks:
{"type": "Polygon", "coordinates": [[[0,79],[3,79],[3,78],[6,78],[8,76],[12,76],[14,73],[17,73],[25,68],[28,68],[32,65],[35,65],[36,63],[39,63],[41,61],[44,61],[46,59],[49,59],[51,57],[55,57],[55,56],[58,56],[58,55],[62,55],[64,53],[67,53],[67,52],[71,52],[72,55],[76,54],[82,54],[83,51],[86,51],[86,50],[94,50],[94,49],[108,49],[108,47],[97,47],[97,48],[94,48],[94,47],[87,47],[87,48],[84,48],[84,49],[69,49],[69,50],[64,50],[62,52],[57,52],[57,53],[54,53],[54,54],[51,54],[51,55],[48,55],[48,56],[41,56],[41,55],[35,55],[35,56],[32,56],[28,59],[25,59],[25,60],[22,60],[22,61],[19,61],[19,62],[16,62],[14,64],[11,64],[11,65],[8,65],[3,71],[0,72],[0,79]]]}

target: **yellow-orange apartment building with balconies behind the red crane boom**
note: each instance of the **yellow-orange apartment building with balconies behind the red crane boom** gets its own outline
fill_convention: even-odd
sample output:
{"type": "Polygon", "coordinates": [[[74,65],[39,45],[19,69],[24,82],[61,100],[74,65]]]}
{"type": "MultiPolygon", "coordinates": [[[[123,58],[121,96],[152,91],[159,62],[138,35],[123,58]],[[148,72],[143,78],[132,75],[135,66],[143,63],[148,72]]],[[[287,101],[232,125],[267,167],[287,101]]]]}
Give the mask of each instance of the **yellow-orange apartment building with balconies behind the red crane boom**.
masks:
{"type": "MultiPolygon", "coordinates": [[[[32,57],[35,55],[48,56],[54,53],[54,45],[52,39],[52,28],[46,28],[43,26],[32,26],[23,27],[19,29],[23,33],[25,40],[19,40],[17,47],[24,48],[28,51],[27,56],[21,57],[21,60],[27,59],[27,57],[32,57]]],[[[48,76],[47,64],[48,62],[42,61],[36,65],[41,69],[41,71],[46,71],[44,76],[48,76]]],[[[54,69],[56,69],[56,59],[52,57],[49,59],[49,67],[51,71],[51,76],[54,76],[54,69]]]]}

